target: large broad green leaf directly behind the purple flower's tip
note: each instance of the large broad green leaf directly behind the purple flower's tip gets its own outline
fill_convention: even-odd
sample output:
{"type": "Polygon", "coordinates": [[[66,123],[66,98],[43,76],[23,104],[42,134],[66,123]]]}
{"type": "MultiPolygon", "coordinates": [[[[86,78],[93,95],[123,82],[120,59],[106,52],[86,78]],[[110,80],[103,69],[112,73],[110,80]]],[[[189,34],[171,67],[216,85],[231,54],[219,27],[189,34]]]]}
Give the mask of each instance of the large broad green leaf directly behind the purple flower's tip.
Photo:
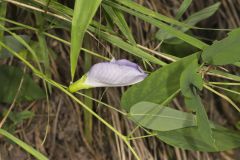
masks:
{"type": "Polygon", "coordinates": [[[180,89],[180,75],[197,54],[182,58],[151,73],[144,81],[129,88],[121,99],[121,106],[130,111],[134,104],[147,101],[161,104],[180,89]]]}

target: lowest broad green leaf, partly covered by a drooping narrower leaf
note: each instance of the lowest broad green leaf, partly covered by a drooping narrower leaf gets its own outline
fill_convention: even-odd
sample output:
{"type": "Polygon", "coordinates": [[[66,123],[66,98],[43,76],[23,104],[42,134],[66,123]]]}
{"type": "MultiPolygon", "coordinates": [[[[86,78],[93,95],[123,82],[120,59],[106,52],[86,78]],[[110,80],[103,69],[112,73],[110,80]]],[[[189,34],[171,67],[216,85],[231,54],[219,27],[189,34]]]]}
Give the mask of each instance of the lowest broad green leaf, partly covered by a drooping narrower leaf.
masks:
{"type": "Polygon", "coordinates": [[[197,127],[157,133],[165,143],[188,150],[220,152],[240,147],[240,133],[222,127],[212,129],[215,145],[206,143],[197,127]]]}

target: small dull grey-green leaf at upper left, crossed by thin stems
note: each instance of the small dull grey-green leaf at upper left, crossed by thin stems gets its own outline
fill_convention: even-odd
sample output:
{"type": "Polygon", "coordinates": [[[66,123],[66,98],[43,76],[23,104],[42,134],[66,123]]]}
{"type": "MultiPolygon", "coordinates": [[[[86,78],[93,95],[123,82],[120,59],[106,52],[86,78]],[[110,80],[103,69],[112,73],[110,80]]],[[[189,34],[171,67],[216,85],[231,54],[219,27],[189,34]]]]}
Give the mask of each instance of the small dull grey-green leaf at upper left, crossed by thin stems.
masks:
{"type": "MultiPolygon", "coordinates": [[[[25,40],[27,43],[30,41],[30,37],[27,35],[19,35],[23,40],[25,40]]],[[[19,42],[18,39],[16,39],[14,36],[4,36],[3,42],[10,48],[12,48],[15,52],[20,52],[23,49],[25,49],[24,45],[19,42]]],[[[2,49],[0,51],[0,58],[9,58],[12,54],[8,52],[6,49],[2,49]]]]}

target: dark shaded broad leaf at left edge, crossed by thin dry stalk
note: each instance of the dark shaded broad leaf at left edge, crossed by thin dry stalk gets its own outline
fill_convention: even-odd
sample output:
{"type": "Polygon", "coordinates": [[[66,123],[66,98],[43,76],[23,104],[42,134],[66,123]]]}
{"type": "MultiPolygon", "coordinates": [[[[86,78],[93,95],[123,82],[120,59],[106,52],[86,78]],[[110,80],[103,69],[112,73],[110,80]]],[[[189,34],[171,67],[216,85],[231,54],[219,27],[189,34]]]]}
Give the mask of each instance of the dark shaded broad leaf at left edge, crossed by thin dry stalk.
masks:
{"type": "Polygon", "coordinates": [[[45,97],[45,92],[22,70],[13,66],[0,66],[0,101],[12,103],[17,93],[20,81],[23,78],[23,84],[18,96],[18,101],[32,101],[45,97]]]}

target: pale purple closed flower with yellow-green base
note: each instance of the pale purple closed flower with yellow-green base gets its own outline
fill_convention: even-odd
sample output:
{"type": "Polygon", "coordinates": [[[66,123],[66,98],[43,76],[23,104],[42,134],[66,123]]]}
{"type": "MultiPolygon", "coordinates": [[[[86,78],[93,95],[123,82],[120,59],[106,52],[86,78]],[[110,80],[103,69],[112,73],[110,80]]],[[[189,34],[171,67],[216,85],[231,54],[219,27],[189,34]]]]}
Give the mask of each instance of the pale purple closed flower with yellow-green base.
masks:
{"type": "Polygon", "coordinates": [[[141,82],[147,74],[135,63],[126,59],[97,63],[80,80],[70,85],[69,90],[93,87],[128,86],[141,82]]]}

